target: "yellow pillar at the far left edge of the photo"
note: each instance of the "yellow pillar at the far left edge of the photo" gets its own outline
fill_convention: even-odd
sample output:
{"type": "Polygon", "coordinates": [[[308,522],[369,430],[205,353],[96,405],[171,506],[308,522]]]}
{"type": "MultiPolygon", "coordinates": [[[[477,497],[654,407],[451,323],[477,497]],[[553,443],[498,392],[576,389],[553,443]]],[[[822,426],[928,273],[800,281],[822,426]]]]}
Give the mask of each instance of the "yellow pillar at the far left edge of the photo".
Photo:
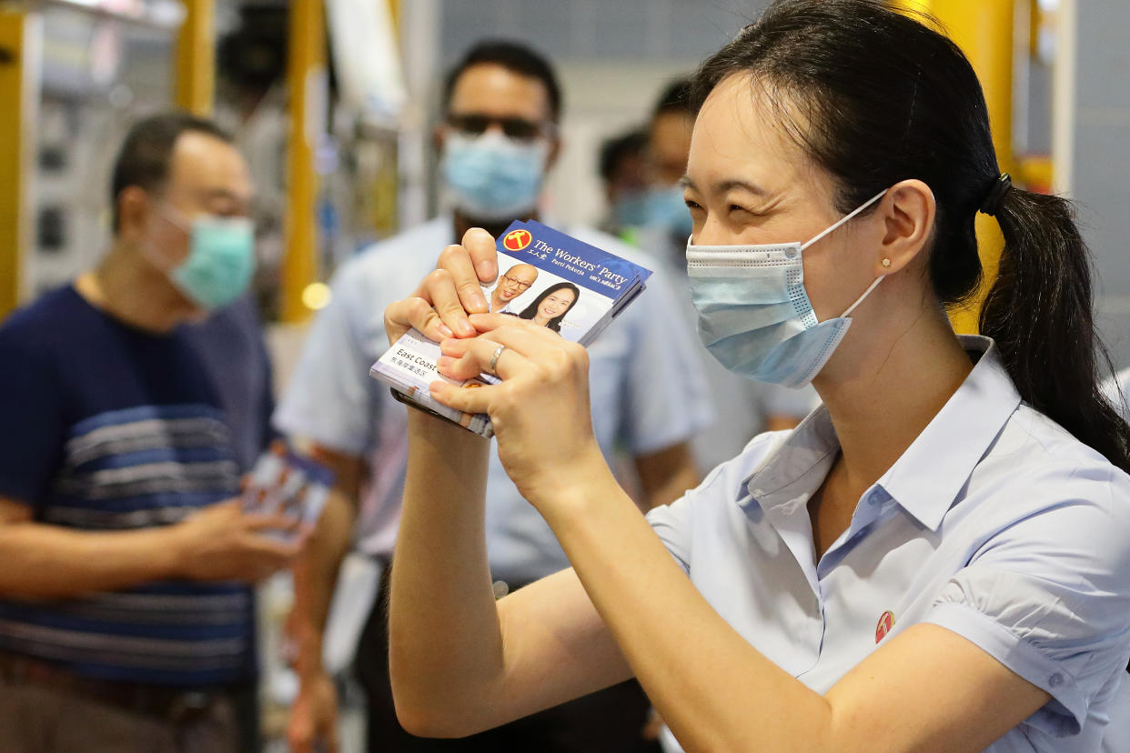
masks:
{"type": "Polygon", "coordinates": [[[38,18],[0,9],[0,317],[20,303],[31,253],[38,59],[38,18]]]}

